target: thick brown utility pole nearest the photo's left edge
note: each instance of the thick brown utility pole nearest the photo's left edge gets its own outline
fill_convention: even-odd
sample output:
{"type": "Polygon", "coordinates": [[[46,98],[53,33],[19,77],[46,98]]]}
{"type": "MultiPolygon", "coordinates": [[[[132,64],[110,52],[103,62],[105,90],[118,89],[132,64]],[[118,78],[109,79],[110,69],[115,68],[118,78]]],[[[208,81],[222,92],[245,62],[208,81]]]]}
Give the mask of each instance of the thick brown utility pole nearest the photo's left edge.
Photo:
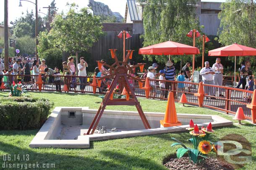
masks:
{"type": "Polygon", "coordinates": [[[8,0],[5,0],[5,21],[4,21],[4,41],[5,41],[5,70],[9,70],[9,36],[8,36],[8,0]]]}

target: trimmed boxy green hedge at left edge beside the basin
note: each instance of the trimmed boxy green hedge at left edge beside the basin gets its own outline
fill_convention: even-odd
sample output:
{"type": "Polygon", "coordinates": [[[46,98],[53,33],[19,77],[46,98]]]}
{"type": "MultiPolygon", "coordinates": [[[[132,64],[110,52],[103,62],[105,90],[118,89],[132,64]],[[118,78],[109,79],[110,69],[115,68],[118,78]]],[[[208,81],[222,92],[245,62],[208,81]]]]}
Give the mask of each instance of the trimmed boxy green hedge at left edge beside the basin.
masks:
{"type": "Polygon", "coordinates": [[[0,98],[0,130],[37,129],[46,121],[52,106],[44,98],[0,98]]]}

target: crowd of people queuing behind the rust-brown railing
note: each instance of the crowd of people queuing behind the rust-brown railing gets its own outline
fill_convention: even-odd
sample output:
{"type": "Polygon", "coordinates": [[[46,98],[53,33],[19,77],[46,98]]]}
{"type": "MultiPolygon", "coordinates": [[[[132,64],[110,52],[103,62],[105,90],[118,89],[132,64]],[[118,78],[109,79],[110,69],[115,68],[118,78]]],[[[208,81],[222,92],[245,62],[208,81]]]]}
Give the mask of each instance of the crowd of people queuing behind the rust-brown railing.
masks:
{"type": "MultiPolygon", "coordinates": [[[[102,63],[106,63],[104,59],[101,60],[102,63]]],[[[4,70],[3,58],[0,60],[0,82],[2,81],[3,75],[16,75],[8,77],[8,80],[4,80],[5,82],[34,82],[31,84],[32,89],[37,89],[37,79],[38,75],[41,74],[42,81],[45,83],[48,80],[48,83],[55,84],[56,91],[61,92],[61,75],[65,76],[63,81],[64,84],[68,85],[68,89],[73,88],[74,91],[77,91],[77,76],[79,78],[79,86],[80,91],[84,93],[86,84],[87,84],[87,73],[86,67],[88,67],[88,63],[84,60],[84,57],[80,58],[80,62],[77,64],[77,67],[74,63],[74,58],[69,57],[68,61],[64,61],[63,68],[48,68],[45,59],[42,61],[37,61],[35,57],[13,57],[9,58],[9,70],[4,70]],[[76,68],[78,69],[78,74],[76,75],[76,68]],[[62,74],[61,71],[62,70],[62,74]],[[30,75],[33,76],[30,76],[30,75]]],[[[129,61],[130,66],[135,64],[134,61],[129,61]]],[[[141,78],[149,77],[151,79],[150,86],[152,86],[152,91],[150,93],[151,96],[156,96],[157,88],[160,89],[161,94],[160,98],[167,98],[168,90],[176,89],[178,91],[185,91],[185,88],[188,89],[188,92],[191,92],[192,85],[186,83],[177,83],[173,84],[170,81],[184,81],[191,82],[192,75],[190,74],[190,63],[186,63],[185,66],[180,70],[179,74],[176,76],[176,70],[174,66],[174,61],[169,60],[165,63],[165,67],[159,70],[157,73],[158,64],[153,63],[145,73],[141,76],[141,78]],[[175,79],[176,77],[176,79],[175,79]],[[159,81],[157,82],[157,80],[159,81]],[[170,81],[164,81],[170,80],[170,81]]],[[[236,88],[239,88],[242,84],[243,89],[247,89],[253,91],[254,89],[254,79],[252,76],[252,71],[250,69],[250,62],[246,62],[245,64],[241,64],[240,68],[240,81],[236,88]]],[[[94,74],[96,77],[102,77],[110,74],[110,70],[106,69],[104,65],[101,68],[96,67],[94,69],[94,74]]],[[[212,86],[204,86],[205,94],[209,94],[211,99],[215,99],[214,96],[224,97],[222,94],[222,80],[223,80],[223,71],[224,67],[221,64],[220,58],[216,58],[216,63],[210,67],[210,63],[208,61],[205,62],[205,67],[201,69],[200,75],[202,76],[203,84],[217,85],[218,88],[214,88],[212,86]]],[[[129,73],[131,76],[138,77],[136,71],[129,73]]],[[[103,85],[110,85],[111,79],[105,79],[102,81],[103,85]]],[[[134,86],[134,80],[129,79],[130,86],[134,86]]],[[[43,89],[44,89],[43,84],[43,89]]],[[[99,92],[101,92],[103,88],[99,88],[99,92]]],[[[244,96],[245,99],[248,99],[248,96],[244,96]]]]}

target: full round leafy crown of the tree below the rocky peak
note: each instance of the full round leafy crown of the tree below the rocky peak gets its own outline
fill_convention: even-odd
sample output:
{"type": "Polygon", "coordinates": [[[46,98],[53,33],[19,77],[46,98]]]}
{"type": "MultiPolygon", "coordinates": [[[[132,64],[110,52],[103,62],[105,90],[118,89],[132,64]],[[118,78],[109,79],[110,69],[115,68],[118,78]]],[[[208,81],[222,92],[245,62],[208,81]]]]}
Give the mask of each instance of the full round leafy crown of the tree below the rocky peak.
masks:
{"type": "Polygon", "coordinates": [[[99,17],[92,15],[87,8],[76,13],[76,7],[71,4],[67,15],[56,15],[52,22],[50,42],[63,51],[86,51],[103,35],[99,17]]]}

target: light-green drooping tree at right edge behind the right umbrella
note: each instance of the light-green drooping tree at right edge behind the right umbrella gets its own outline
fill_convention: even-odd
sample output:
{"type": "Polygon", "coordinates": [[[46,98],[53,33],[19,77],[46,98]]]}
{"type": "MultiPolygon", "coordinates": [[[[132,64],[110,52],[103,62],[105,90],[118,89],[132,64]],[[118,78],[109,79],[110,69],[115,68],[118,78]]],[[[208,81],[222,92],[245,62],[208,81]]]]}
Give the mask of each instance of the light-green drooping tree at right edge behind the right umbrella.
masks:
{"type": "MultiPolygon", "coordinates": [[[[256,47],[256,1],[228,0],[221,5],[219,13],[219,42],[223,45],[239,43],[256,47]]],[[[234,59],[234,57],[230,58],[234,59]]],[[[240,61],[244,57],[239,58],[240,61]]],[[[249,59],[249,58],[247,58],[249,59]]],[[[256,63],[256,58],[250,56],[250,61],[256,63]]]]}

